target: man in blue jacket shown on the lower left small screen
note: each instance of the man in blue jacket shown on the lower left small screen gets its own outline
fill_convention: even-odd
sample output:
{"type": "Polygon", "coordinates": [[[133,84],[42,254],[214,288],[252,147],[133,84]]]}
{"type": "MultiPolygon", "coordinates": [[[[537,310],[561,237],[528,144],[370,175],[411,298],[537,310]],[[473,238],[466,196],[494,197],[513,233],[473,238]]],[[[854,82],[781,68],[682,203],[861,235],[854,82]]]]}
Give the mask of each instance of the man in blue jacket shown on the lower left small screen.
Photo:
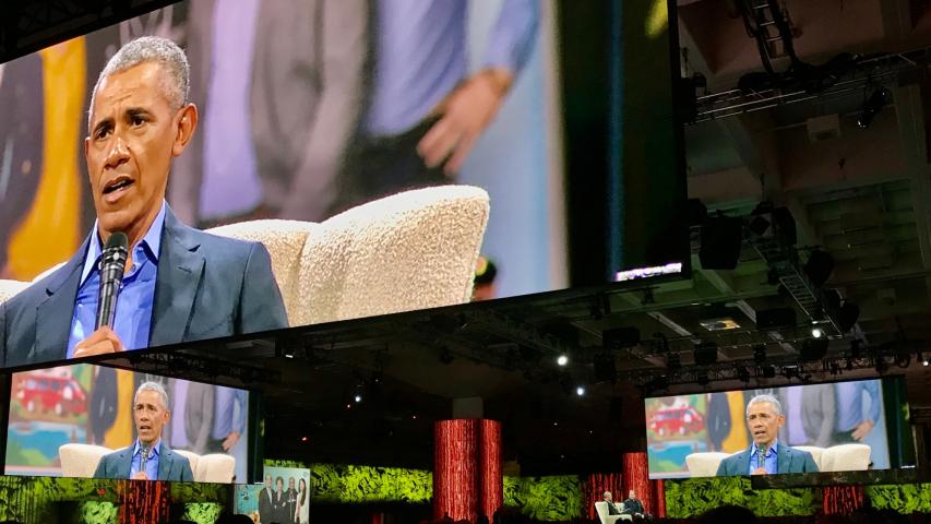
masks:
{"type": "Polygon", "coordinates": [[[157,382],[145,382],[135,391],[132,418],[139,434],[129,448],[100,458],[94,478],[193,481],[188,458],[175,453],[162,441],[162,428],[168,424],[168,395],[157,382]]]}

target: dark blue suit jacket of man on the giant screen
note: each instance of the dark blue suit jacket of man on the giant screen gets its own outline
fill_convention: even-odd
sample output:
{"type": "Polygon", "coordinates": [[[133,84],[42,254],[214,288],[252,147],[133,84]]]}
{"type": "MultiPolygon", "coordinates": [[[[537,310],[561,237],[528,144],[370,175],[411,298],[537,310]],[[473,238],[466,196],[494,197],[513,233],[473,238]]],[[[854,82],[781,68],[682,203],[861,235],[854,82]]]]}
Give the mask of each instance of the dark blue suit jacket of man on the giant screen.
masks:
{"type": "MultiPolygon", "coordinates": [[[[0,305],[4,366],[63,360],[84,255],[0,305]]],[[[150,346],[287,327],[268,252],[188,227],[166,207],[150,346]]]]}

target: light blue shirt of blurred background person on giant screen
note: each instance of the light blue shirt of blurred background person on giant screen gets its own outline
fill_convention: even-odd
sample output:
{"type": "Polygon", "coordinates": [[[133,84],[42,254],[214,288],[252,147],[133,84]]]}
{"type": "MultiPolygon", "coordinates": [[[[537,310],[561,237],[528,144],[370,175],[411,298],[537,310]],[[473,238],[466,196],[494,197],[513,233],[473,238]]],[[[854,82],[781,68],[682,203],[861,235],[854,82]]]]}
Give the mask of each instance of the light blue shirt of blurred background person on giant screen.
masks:
{"type": "MultiPolygon", "coordinates": [[[[372,136],[401,134],[466,78],[466,0],[379,0],[374,90],[365,121],[372,136]]],[[[514,76],[534,48],[539,0],[504,0],[480,68],[514,76]]]]}

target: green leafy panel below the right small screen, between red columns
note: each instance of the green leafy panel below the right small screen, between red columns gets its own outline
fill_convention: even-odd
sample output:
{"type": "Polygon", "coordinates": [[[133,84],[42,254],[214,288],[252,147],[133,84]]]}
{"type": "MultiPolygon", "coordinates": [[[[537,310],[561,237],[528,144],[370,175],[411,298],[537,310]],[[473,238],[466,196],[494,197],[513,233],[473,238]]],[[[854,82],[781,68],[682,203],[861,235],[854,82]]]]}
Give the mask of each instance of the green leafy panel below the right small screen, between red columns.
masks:
{"type": "Polygon", "coordinates": [[[812,515],[821,507],[812,488],[753,490],[747,477],[691,478],[666,481],[666,511],[688,519],[720,505],[735,504],[757,516],[812,515]]]}

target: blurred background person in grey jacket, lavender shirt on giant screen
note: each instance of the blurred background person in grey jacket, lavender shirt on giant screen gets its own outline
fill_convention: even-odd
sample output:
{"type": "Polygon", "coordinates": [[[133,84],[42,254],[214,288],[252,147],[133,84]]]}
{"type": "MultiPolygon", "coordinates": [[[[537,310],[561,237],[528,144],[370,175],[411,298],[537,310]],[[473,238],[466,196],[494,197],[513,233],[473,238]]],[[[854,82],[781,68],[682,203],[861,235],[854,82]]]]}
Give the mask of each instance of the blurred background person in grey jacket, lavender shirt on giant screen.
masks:
{"type": "Polygon", "coordinates": [[[199,0],[187,24],[204,130],[177,163],[182,219],[320,222],[365,107],[368,0],[199,0]]]}

